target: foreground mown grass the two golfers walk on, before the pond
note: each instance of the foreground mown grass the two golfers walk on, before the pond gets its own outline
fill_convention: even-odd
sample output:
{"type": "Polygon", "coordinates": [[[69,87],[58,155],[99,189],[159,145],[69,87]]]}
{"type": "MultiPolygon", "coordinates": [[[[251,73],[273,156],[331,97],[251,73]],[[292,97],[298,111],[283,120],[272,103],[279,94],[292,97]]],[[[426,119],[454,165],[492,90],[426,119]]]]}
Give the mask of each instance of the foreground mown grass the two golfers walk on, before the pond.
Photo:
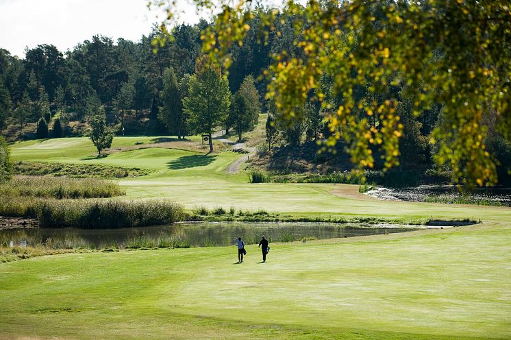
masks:
{"type": "Polygon", "coordinates": [[[511,228],[0,265],[0,337],[509,339],[511,228]]]}

